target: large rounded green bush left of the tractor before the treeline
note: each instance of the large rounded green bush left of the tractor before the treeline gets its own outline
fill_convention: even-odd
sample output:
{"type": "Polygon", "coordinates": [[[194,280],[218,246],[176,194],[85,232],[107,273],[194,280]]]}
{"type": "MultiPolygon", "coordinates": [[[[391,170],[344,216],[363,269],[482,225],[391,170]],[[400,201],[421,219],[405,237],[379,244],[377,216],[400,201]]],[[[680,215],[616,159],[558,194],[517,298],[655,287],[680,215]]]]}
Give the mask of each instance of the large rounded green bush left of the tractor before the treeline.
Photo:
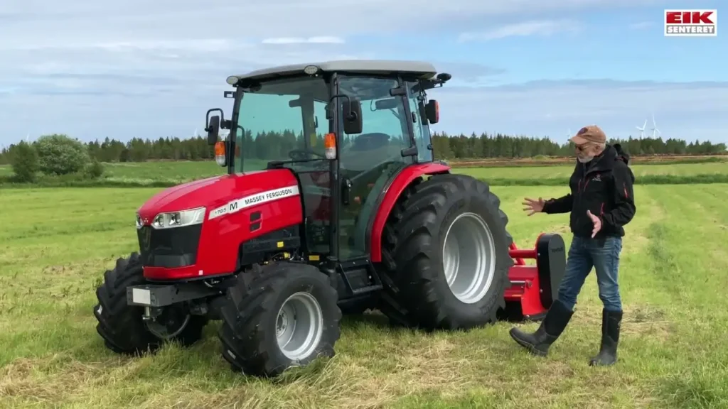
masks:
{"type": "Polygon", "coordinates": [[[43,135],[36,141],[40,170],[46,175],[68,175],[91,162],[84,144],[67,135],[43,135]]]}

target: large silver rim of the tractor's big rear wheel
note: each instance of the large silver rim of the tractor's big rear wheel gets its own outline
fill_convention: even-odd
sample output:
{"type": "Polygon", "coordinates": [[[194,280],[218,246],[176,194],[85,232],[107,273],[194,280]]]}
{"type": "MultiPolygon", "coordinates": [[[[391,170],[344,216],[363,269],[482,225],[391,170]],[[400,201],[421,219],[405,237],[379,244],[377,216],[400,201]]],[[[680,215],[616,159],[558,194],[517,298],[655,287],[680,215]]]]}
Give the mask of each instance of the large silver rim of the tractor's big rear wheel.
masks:
{"type": "Polygon", "coordinates": [[[475,213],[455,218],[445,234],[443,269],[453,295],[463,303],[476,303],[491,287],[496,269],[491,229],[475,213]]]}

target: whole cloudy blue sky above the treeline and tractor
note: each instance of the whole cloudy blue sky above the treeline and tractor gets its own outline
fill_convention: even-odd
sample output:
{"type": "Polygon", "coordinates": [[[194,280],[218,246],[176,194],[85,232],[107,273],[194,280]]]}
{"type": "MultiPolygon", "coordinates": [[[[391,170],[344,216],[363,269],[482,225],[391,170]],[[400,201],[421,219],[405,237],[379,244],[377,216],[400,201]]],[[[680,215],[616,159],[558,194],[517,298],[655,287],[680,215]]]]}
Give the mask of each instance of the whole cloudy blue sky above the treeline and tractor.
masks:
{"type": "Polygon", "coordinates": [[[662,0],[23,0],[0,8],[0,146],[188,138],[232,100],[225,79],[336,59],[426,60],[438,132],[563,143],[598,124],[728,142],[728,41],[665,37],[662,0]],[[719,52],[723,49],[723,52],[719,52]],[[722,56],[721,56],[722,55],[722,56]]]}

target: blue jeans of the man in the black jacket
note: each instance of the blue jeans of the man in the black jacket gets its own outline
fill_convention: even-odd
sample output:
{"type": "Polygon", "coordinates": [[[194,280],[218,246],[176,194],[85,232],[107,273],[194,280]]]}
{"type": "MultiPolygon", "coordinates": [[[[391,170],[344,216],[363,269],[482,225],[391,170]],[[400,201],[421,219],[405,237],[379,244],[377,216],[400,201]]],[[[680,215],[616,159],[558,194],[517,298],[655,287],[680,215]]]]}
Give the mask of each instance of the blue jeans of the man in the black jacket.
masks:
{"type": "Polygon", "coordinates": [[[622,237],[574,237],[566,259],[566,273],[558,288],[558,300],[573,311],[584,281],[594,267],[604,309],[622,311],[620,286],[617,284],[621,251],[622,237]]]}

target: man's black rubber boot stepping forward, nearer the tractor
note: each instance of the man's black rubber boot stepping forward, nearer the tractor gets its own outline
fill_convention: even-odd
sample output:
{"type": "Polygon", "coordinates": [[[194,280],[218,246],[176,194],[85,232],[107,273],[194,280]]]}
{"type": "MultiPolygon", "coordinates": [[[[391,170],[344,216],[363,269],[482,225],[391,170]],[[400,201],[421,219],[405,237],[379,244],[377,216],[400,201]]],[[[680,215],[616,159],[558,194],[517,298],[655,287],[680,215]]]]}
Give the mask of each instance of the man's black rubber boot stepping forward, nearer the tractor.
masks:
{"type": "Polygon", "coordinates": [[[551,344],[563,333],[574,311],[563,303],[554,301],[535,333],[524,333],[518,328],[510,329],[510,336],[532,354],[545,357],[551,344]]]}

